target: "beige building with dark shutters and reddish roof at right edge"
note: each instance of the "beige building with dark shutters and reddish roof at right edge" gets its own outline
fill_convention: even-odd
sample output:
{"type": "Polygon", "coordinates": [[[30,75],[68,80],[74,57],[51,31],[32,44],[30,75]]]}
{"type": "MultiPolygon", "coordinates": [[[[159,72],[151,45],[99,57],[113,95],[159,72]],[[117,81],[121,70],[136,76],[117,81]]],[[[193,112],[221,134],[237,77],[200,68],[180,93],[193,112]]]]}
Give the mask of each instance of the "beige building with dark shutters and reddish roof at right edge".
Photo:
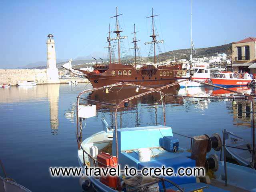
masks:
{"type": "Polygon", "coordinates": [[[232,68],[234,72],[256,74],[256,38],[232,43],[232,68]]]}

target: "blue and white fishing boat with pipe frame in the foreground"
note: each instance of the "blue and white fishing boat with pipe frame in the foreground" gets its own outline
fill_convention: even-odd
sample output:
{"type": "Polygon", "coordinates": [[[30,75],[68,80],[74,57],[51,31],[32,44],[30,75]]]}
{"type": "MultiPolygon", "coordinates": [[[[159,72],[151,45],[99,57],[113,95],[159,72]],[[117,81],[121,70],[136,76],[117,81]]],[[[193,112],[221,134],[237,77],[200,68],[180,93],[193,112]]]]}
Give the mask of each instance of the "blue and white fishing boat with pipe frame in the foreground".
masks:
{"type": "MultiPolygon", "coordinates": [[[[78,95],[77,99],[77,143],[78,143],[78,162],[83,168],[88,167],[116,167],[120,165],[124,168],[125,165],[139,169],[149,167],[195,167],[202,165],[207,170],[211,169],[214,172],[215,179],[212,184],[197,182],[200,181],[196,176],[174,177],[161,176],[161,178],[151,178],[149,182],[142,182],[140,176],[120,177],[114,176],[90,176],[84,178],[84,189],[89,190],[92,186],[97,192],[102,191],[128,191],[131,188],[136,188],[138,191],[198,191],[204,192],[226,192],[226,191],[247,191],[255,190],[256,183],[253,182],[256,176],[255,170],[238,166],[223,161],[218,161],[217,157],[210,155],[205,160],[200,161],[202,154],[210,152],[211,148],[219,151],[222,148],[220,136],[213,134],[209,136],[196,136],[193,139],[192,151],[180,148],[178,140],[174,137],[172,128],[166,126],[165,103],[162,89],[171,87],[173,84],[164,86],[158,89],[146,88],[129,83],[118,83],[102,88],[84,90],[78,95]],[[101,102],[99,100],[91,100],[82,97],[84,94],[96,90],[103,90],[107,94],[107,89],[114,86],[133,86],[135,88],[148,90],[147,92],[138,95],[124,98],[118,104],[101,102]],[[144,95],[157,92],[161,95],[163,106],[163,125],[158,126],[140,126],[140,127],[123,127],[118,128],[117,116],[123,108],[129,107],[132,100],[144,95]],[[80,102],[86,100],[87,103],[80,102]],[[111,128],[106,120],[102,118],[103,130],[92,136],[82,140],[82,130],[86,129],[83,121],[87,118],[96,115],[96,106],[93,104],[103,104],[112,106],[115,109],[115,126],[111,128]],[[198,144],[199,140],[204,140],[205,145],[198,144]],[[207,141],[207,142],[206,142],[207,141]],[[202,148],[201,148],[202,147],[202,148]],[[198,149],[200,148],[200,150],[198,149]],[[108,154],[107,154],[108,153],[108,154]],[[108,162],[108,163],[107,163],[108,162]],[[224,187],[224,172],[228,169],[229,188],[224,187]],[[246,180],[244,179],[246,178],[246,180]],[[215,186],[214,186],[215,185],[215,186]],[[178,189],[177,189],[178,188],[178,189]]],[[[122,112],[123,113],[123,112],[122,112]]],[[[202,159],[201,159],[202,160],[202,159]]]]}

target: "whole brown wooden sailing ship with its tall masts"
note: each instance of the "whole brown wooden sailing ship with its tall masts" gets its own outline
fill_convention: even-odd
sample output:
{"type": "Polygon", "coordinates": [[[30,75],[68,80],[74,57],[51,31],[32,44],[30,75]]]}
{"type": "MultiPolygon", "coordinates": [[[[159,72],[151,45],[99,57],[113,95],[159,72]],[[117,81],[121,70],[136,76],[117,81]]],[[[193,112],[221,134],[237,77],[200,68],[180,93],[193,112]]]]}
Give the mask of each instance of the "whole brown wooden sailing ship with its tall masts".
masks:
{"type": "Polygon", "coordinates": [[[152,18],[152,34],[150,37],[152,38],[151,42],[146,42],[145,44],[152,44],[154,46],[154,63],[153,64],[140,64],[140,68],[136,68],[137,64],[137,51],[138,46],[137,42],[139,40],[136,39],[136,30],[134,24],[134,51],[135,51],[135,62],[134,63],[124,63],[121,62],[120,57],[120,41],[121,39],[127,38],[127,36],[121,36],[118,16],[122,14],[118,14],[118,8],[116,8],[116,15],[111,18],[116,18],[116,27],[114,33],[116,34],[115,38],[110,37],[110,27],[107,37],[108,43],[108,54],[109,54],[109,62],[107,64],[94,64],[93,72],[88,72],[86,70],[74,69],[80,71],[80,74],[84,74],[88,80],[92,83],[94,88],[106,86],[109,84],[114,84],[116,82],[131,82],[134,84],[142,85],[142,86],[163,86],[173,82],[176,82],[177,78],[180,78],[182,75],[186,74],[186,71],[182,70],[182,63],[170,63],[170,64],[158,64],[156,59],[156,45],[158,43],[163,43],[163,40],[156,40],[158,36],[155,32],[154,28],[154,17],[158,15],[153,14],[152,8],[152,16],[148,18],[152,18]],[[112,61],[112,46],[111,42],[113,40],[117,41],[118,47],[118,62],[112,61]]]}

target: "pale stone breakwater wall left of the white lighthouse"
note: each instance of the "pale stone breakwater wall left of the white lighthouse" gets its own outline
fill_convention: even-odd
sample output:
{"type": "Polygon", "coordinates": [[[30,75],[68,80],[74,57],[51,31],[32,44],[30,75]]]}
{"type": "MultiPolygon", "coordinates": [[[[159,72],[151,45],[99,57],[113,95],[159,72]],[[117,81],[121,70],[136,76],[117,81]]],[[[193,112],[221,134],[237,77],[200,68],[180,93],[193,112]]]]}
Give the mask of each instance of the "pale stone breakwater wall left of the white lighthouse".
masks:
{"type": "Polygon", "coordinates": [[[0,84],[16,85],[19,80],[47,83],[46,69],[0,69],[0,84]]]}

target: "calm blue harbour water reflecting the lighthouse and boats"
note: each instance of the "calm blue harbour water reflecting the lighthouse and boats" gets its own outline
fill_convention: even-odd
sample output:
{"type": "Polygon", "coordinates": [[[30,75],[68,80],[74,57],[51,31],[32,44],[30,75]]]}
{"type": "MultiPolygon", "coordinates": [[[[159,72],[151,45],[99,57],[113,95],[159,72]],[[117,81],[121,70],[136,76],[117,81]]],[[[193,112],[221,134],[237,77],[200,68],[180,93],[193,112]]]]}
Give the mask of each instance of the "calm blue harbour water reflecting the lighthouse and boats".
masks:
{"type": "MultiPolygon", "coordinates": [[[[54,177],[49,167],[78,166],[76,144],[75,105],[76,96],[90,84],[38,85],[0,89],[0,158],[8,177],[13,178],[33,192],[82,191],[78,178],[54,177]]],[[[246,87],[237,88],[250,92],[246,87]]],[[[102,91],[86,94],[89,99],[118,102],[135,94],[135,89],[102,91]]],[[[222,90],[208,87],[169,89],[170,94],[219,95],[222,90]]],[[[221,134],[225,128],[251,140],[250,104],[230,100],[205,100],[191,98],[166,99],[166,125],[174,132],[194,136],[221,134]]],[[[100,118],[106,118],[114,126],[114,109],[97,104],[97,115],[87,120],[83,138],[102,130],[100,118]]],[[[129,107],[118,113],[118,126],[145,126],[163,124],[160,94],[152,94],[132,100],[129,107]]],[[[189,148],[190,140],[178,137],[180,146],[189,148]]],[[[213,152],[213,151],[212,151],[213,152]]],[[[1,176],[3,176],[1,172],[1,176]]]]}

